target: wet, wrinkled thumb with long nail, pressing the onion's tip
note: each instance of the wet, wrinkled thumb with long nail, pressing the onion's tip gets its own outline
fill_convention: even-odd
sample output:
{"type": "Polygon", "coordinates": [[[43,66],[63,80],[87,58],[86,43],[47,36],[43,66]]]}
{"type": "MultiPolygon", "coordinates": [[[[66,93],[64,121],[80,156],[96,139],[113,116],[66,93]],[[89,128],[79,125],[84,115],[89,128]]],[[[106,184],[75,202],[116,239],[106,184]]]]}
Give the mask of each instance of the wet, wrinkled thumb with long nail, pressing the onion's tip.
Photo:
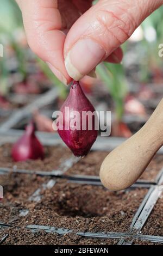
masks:
{"type": "Polygon", "coordinates": [[[64,57],[70,77],[78,81],[89,74],[162,4],[162,0],[99,0],[66,36],[64,57]]]}

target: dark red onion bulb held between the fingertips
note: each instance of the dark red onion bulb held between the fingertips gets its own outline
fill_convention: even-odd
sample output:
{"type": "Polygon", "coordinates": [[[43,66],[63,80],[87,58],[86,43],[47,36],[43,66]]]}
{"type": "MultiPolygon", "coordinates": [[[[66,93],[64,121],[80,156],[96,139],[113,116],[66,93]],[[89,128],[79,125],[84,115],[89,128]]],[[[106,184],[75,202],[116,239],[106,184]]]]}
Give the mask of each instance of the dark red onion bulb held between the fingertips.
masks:
{"type": "Polygon", "coordinates": [[[71,127],[68,127],[68,130],[65,130],[65,107],[69,107],[71,111],[78,111],[80,113],[80,124],[82,127],[82,111],[91,111],[94,112],[95,108],[92,106],[91,102],[85,96],[82,88],[80,87],[79,82],[74,81],[71,88],[70,94],[68,95],[66,101],[62,105],[60,111],[64,115],[63,130],[58,129],[58,133],[61,139],[65,142],[68,148],[71,149],[73,154],[78,157],[86,156],[93,143],[96,141],[98,132],[95,130],[95,120],[93,120],[93,129],[89,131],[72,130],[71,127]]]}

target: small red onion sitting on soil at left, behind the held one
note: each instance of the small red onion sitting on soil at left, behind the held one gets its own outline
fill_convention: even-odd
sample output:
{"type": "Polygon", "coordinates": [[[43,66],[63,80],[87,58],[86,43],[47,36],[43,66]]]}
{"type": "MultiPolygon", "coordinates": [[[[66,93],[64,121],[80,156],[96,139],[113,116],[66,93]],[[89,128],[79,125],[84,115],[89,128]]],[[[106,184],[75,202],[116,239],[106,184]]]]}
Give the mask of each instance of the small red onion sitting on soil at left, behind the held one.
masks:
{"type": "Polygon", "coordinates": [[[27,125],[23,136],[12,147],[11,156],[15,162],[43,159],[43,146],[35,136],[33,122],[27,125]]]}

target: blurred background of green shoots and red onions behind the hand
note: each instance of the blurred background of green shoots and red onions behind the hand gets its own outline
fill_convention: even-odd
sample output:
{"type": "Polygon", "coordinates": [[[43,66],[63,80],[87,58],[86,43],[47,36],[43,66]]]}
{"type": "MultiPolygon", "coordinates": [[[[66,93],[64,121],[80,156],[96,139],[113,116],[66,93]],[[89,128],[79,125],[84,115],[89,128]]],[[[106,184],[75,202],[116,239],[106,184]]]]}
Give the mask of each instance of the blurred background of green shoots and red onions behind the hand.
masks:
{"type": "MultiPolygon", "coordinates": [[[[1,0],[0,15],[0,44],[4,48],[0,57],[0,126],[13,111],[57,87],[57,101],[31,114],[37,130],[53,132],[52,112],[60,108],[68,88],[30,51],[15,1],[1,0]],[[43,120],[49,126],[43,125],[43,120]]],[[[112,111],[111,136],[130,137],[145,124],[163,96],[163,66],[158,54],[163,43],[162,22],[163,7],[149,16],[122,46],[122,64],[100,64],[97,79],[85,77],[81,82],[97,110],[112,111]]],[[[31,115],[14,128],[24,129],[31,115]]]]}

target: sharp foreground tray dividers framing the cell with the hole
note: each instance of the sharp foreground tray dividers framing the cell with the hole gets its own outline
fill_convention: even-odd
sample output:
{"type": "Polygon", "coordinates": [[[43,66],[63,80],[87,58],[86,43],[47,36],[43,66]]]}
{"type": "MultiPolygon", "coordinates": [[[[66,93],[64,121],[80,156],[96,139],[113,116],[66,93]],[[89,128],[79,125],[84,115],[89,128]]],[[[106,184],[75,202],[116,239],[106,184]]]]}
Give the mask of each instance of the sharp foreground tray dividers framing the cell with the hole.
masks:
{"type": "MultiPolygon", "coordinates": [[[[86,176],[86,175],[72,175],[72,176],[67,176],[65,175],[66,170],[68,170],[69,168],[71,168],[73,166],[74,163],[76,163],[78,161],[72,161],[73,157],[70,157],[69,159],[67,159],[64,163],[60,164],[60,167],[58,170],[53,170],[52,172],[41,172],[41,171],[30,171],[30,170],[19,170],[19,169],[14,169],[13,172],[15,173],[25,173],[25,174],[37,174],[37,175],[42,175],[42,176],[54,176],[54,178],[59,178],[59,179],[67,179],[67,182],[77,182],[79,184],[87,184],[87,185],[102,185],[99,178],[97,176],[86,176]],[[71,164],[70,164],[71,163],[71,164]]],[[[0,168],[0,175],[4,174],[4,173],[9,173],[11,171],[10,168],[0,168]]],[[[49,177],[49,181],[54,181],[49,177]]],[[[162,182],[162,177],[163,177],[163,172],[162,169],[160,170],[158,176],[156,177],[156,180],[154,182],[150,182],[150,181],[146,181],[146,180],[138,180],[137,182],[135,182],[134,187],[148,187],[148,193],[146,194],[145,198],[143,199],[143,202],[141,203],[139,209],[137,210],[134,218],[133,218],[133,222],[131,223],[131,227],[130,227],[130,232],[129,233],[117,233],[119,235],[116,234],[117,238],[120,238],[120,241],[118,242],[118,245],[122,244],[122,245],[131,245],[133,243],[133,240],[135,239],[135,236],[133,235],[133,230],[137,235],[139,235],[139,232],[141,230],[141,228],[143,227],[143,225],[145,224],[145,222],[147,221],[147,218],[149,217],[149,215],[151,214],[151,211],[156,203],[156,200],[158,199],[158,188],[159,188],[159,184],[161,184],[162,182]],[[154,191],[154,193],[153,193],[154,191]],[[152,202],[153,204],[151,205],[151,198],[152,198],[152,202]],[[147,204],[148,202],[148,204],[147,204]],[[148,214],[146,214],[147,209],[150,206],[150,210],[148,210],[148,214]],[[141,221],[140,221],[141,220],[141,221]],[[140,224],[141,223],[141,224],[140,224]]],[[[48,184],[47,182],[47,184],[48,184]]],[[[44,190],[46,190],[46,188],[48,188],[47,184],[42,184],[41,188],[43,187],[44,190]]],[[[53,183],[53,186],[56,183],[53,183]]],[[[28,200],[33,200],[34,202],[38,202],[41,198],[40,198],[40,192],[41,192],[41,188],[38,188],[33,194],[32,196],[30,196],[28,198],[28,200]]],[[[132,187],[131,187],[132,188],[132,187]]],[[[130,188],[130,189],[131,189],[130,188]]],[[[21,216],[26,216],[28,214],[28,210],[27,209],[23,209],[20,212],[21,216]],[[23,215],[23,212],[25,212],[25,214],[23,215]]],[[[3,225],[2,225],[3,226],[3,225]]],[[[4,226],[3,226],[4,227],[4,226]]],[[[11,226],[12,227],[12,226],[11,226]]],[[[29,227],[30,229],[34,229],[34,227],[29,227]]],[[[42,227],[41,225],[39,226],[39,228],[42,227]]],[[[41,229],[41,228],[40,228],[41,229]]],[[[50,230],[54,232],[54,229],[56,231],[60,230],[58,228],[50,228],[50,230]]],[[[38,230],[38,229],[37,229],[38,230]]],[[[43,228],[44,230],[44,228],[43,228]]],[[[49,229],[47,229],[48,231],[50,231],[49,229]]],[[[61,229],[61,230],[66,230],[66,229],[61,229]]],[[[35,229],[36,231],[36,229],[35,229]]],[[[64,234],[66,234],[64,231],[64,234]]],[[[68,231],[70,233],[70,230],[68,231]]],[[[61,233],[58,233],[61,234],[61,233]]],[[[111,233],[107,233],[107,234],[103,234],[103,233],[81,233],[81,232],[76,232],[77,235],[82,235],[82,236],[86,236],[86,237],[98,237],[100,238],[116,238],[115,237],[115,233],[111,232],[111,233]],[[113,233],[113,234],[112,234],[113,233]],[[85,235],[83,235],[85,234],[85,235]]],[[[156,237],[153,237],[152,240],[152,236],[146,236],[146,237],[142,237],[142,236],[136,236],[137,239],[146,239],[148,240],[148,237],[150,239],[150,241],[157,241],[157,242],[163,242],[163,237],[158,237],[158,240],[156,239],[156,237]],[[162,240],[161,240],[162,239],[162,240]]],[[[4,237],[3,237],[4,238],[4,237]]],[[[7,239],[7,237],[5,237],[3,239],[3,241],[5,241],[5,239],[7,239]]],[[[1,243],[3,242],[1,241],[1,243]]]]}

